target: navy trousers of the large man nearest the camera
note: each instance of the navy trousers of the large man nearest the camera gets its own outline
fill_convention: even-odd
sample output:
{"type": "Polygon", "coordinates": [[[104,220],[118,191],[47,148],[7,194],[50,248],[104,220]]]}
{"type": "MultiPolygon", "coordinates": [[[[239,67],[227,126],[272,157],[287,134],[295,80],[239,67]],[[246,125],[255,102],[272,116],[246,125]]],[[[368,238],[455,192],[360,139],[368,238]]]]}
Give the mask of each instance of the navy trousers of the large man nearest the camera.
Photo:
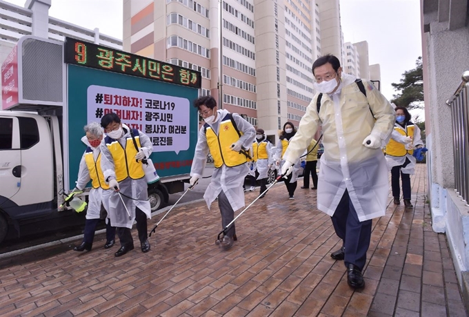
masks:
{"type": "Polygon", "coordinates": [[[343,193],[331,219],[335,233],[343,240],[344,264],[347,267],[351,263],[362,270],[366,263],[366,251],[370,247],[372,220],[359,221],[348,191],[343,193]]]}

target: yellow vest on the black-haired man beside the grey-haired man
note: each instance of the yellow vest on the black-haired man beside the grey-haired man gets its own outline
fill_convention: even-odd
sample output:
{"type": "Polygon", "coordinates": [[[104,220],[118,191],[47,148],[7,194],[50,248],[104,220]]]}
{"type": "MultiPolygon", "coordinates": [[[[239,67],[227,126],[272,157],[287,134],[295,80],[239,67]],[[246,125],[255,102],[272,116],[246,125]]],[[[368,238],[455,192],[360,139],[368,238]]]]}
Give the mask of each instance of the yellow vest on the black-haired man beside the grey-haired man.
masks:
{"type": "MultiPolygon", "coordinates": [[[[133,131],[135,142],[137,142],[137,146],[140,147],[139,131],[136,129],[133,129],[133,131]]],[[[112,155],[112,160],[114,160],[117,182],[121,182],[127,177],[132,178],[132,180],[139,180],[145,177],[141,161],[137,162],[137,160],[135,160],[137,149],[134,146],[131,136],[127,137],[125,149],[117,140],[111,139],[110,137],[106,137],[104,140],[112,155]]]]}

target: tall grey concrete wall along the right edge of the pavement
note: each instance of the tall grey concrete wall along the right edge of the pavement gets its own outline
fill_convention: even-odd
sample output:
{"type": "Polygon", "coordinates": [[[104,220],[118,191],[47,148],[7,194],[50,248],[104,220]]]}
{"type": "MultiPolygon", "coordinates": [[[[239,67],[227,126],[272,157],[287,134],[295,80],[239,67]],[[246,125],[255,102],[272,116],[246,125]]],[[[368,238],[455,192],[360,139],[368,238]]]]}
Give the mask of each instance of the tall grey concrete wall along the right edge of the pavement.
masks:
{"type": "Polygon", "coordinates": [[[446,233],[469,309],[469,207],[455,193],[451,107],[446,101],[469,70],[467,0],[421,0],[423,82],[432,229],[446,233]]]}

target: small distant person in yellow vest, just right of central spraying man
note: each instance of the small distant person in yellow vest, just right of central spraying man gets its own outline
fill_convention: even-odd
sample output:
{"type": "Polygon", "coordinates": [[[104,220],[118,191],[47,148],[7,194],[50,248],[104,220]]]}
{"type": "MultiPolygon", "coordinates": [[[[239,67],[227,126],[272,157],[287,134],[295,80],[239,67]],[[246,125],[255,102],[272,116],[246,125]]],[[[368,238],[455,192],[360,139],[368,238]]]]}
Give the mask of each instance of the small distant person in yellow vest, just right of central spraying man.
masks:
{"type": "MultiPolygon", "coordinates": [[[[254,161],[254,169],[257,173],[257,180],[261,183],[261,193],[267,190],[267,173],[273,164],[272,143],[267,140],[266,133],[263,129],[258,128],[256,131],[256,140],[252,143],[252,160],[254,161]]],[[[261,195],[263,198],[266,194],[261,195]]]]}

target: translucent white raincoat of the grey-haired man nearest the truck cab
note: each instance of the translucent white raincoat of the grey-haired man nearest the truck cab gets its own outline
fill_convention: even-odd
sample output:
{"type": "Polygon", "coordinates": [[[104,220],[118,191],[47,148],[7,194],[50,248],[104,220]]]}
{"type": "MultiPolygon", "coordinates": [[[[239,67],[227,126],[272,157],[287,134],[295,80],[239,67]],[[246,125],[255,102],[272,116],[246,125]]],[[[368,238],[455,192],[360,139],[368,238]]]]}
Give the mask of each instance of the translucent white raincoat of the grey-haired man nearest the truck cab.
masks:
{"type": "MultiPolygon", "coordinates": [[[[86,146],[90,146],[90,142],[88,142],[88,138],[86,136],[81,138],[81,142],[86,144],[86,146]]],[[[90,146],[90,148],[93,150],[93,159],[94,162],[96,162],[99,153],[101,153],[101,149],[99,147],[93,148],[92,146],[90,146]]],[[[88,182],[91,180],[90,170],[88,169],[88,166],[85,162],[85,153],[83,153],[83,156],[81,157],[76,184],[77,189],[80,191],[82,191],[86,187],[86,184],[88,184],[88,182]]],[[[88,195],[88,209],[86,210],[86,219],[99,219],[101,203],[104,203],[108,200],[108,195],[109,191],[104,190],[101,187],[97,189],[90,189],[90,193],[88,195]]],[[[106,204],[104,207],[104,209],[106,209],[106,204]]],[[[106,211],[107,210],[108,209],[106,209],[106,211]]]]}

